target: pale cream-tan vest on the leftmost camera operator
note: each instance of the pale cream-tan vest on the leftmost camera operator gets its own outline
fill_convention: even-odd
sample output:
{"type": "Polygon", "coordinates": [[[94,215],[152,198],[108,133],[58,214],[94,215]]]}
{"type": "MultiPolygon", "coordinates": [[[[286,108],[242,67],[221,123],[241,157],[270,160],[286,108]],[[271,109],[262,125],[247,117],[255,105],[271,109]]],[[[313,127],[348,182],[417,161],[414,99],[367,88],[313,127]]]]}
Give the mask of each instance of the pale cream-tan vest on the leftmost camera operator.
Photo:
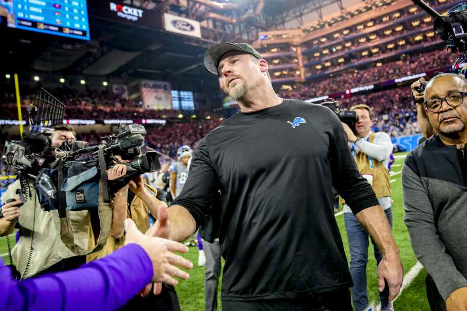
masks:
{"type": "MultiPolygon", "coordinates": [[[[19,188],[20,183],[17,180],[8,187],[1,200],[19,198],[16,194],[16,189],[19,188]]],[[[29,191],[31,194],[25,194],[26,202],[20,207],[18,223],[21,226],[21,235],[11,252],[22,278],[33,276],[63,258],[76,256],[60,240],[59,230],[55,224],[55,220],[58,219],[58,211],[46,212],[42,210],[32,182],[29,182],[29,191]],[[27,267],[29,257],[31,258],[27,267]],[[25,272],[27,273],[25,274],[25,272]]],[[[83,212],[85,213],[81,213],[81,217],[86,218],[87,211],[83,212]]]]}

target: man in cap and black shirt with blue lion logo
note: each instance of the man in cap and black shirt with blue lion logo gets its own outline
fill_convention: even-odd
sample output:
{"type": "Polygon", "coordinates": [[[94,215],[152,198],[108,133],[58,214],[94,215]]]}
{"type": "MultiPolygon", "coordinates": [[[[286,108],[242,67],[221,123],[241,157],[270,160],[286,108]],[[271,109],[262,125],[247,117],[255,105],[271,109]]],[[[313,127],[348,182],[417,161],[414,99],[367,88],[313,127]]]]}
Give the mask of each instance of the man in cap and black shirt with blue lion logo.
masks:
{"type": "Polygon", "coordinates": [[[217,43],[204,64],[241,111],[200,142],[158,234],[192,234],[221,189],[223,310],[352,310],[334,186],[383,250],[379,284],[387,279],[393,299],[403,276],[398,248],[334,112],[279,98],[267,63],[247,44],[217,43]]]}

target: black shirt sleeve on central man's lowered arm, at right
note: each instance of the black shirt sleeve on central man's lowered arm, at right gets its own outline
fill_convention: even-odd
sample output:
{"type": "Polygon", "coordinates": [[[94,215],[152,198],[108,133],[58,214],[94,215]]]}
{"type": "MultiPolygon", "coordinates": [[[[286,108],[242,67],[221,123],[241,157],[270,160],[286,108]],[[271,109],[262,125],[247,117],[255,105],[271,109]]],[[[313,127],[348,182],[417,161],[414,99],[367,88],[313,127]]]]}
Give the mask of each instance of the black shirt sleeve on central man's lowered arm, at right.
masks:
{"type": "Polygon", "coordinates": [[[379,202],[370,183],[362,177],[358,170],[339,118],[331,110],[329,112],[332,114],[330,121],[333,126],[329,146],[333,187],[336,188],[355,215],[365,208],[379,205],[379,202]]]}

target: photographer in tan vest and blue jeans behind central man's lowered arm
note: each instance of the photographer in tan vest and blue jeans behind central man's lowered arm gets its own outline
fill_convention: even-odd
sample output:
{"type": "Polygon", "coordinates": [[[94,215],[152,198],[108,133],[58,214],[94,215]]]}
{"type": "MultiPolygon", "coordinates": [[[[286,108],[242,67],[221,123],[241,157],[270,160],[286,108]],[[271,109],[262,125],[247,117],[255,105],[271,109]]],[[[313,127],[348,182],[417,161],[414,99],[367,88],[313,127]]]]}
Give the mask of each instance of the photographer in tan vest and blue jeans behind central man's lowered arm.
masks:
{"type": "MultiPolygon", "coordinates": [[[[376,198],[381,205],[389,225],[392,228],[391,183],[389,181],[388,163],[392,152],[391,138],[385,132],[374,133],[373,114],[367,105],[356,105],[350,108],[358,114],[354,131],[342,123],[347,136],[348,145],[352,150],[355,162],[362,176],[372,185],[376,198]]],[[[341,202],[344,202],[341,200],[341,202]]],[[[363,311],[368,306],[367,274],[368,262],[368,232],[358,223],[352,210],[344,204],[344,223],[350,247],[350,274],[354,281],[352,299],[356,311],[363,311]]],[[[383,254],[372,238],[374,257],[379,265],[383,254]]],[[[379,293],[381,311],[390,311],[392,301],[389,301],[388,286],[379,293]]]]}

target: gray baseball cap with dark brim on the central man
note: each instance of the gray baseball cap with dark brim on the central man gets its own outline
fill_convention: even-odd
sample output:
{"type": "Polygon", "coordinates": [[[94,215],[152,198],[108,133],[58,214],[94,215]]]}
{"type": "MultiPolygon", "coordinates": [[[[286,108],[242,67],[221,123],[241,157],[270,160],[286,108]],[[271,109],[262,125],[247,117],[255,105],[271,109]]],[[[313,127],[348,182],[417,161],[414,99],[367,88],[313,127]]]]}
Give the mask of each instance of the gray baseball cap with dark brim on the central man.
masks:
{"type": "Polygon", "coordinates": [[[222,55],[230,51],[239,51],[246,54],[251,54],[258,59],[262,58],[258,51],[246,43],[218,42],[211,46],[203,57],[203,64],[205,65],[207,72],[219,76],[219,73],[217,72],[219,60],[221,59],[222,55]]]}

